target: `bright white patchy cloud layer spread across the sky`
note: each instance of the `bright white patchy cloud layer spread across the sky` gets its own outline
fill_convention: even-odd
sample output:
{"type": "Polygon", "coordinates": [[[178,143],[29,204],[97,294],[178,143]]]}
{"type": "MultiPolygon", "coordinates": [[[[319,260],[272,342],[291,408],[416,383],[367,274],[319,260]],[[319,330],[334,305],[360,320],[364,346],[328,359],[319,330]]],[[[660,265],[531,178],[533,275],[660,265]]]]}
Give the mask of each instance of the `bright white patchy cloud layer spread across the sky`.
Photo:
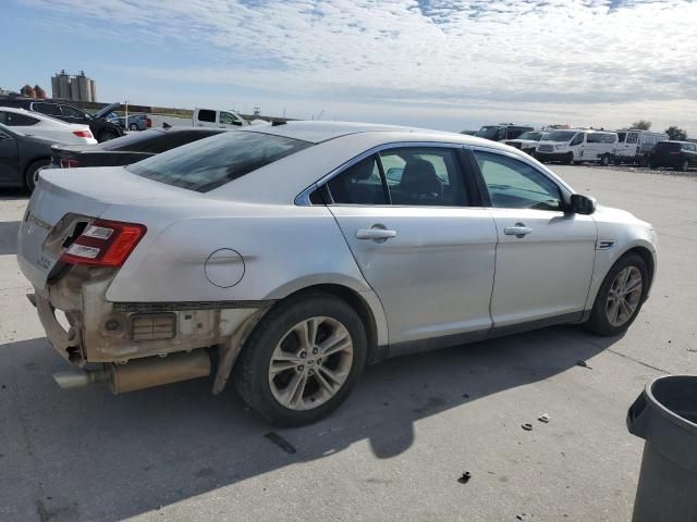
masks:
{"type": "MultiPolygon", "coordinates": [[[[636,110],[636,117],[644,107],[657,111],[647,117],[661,121],[661,111],[680,115],[685,100],[689,105],[697,98],[697,2],[687,0],[26,3],[124,24],[144,42],[184,45],[204,58],[138,74],[280,97],[477,113],[488,108],[529,114],[525,121],[607,125],[627,123],[598,123],[626,117],[619,107],[636,110]],[[546,112],[535,115],[535,108],[546,112]]],[[[683,124],[697,129],[694,107],[684,116],[690,120],[683,124]]]]}

